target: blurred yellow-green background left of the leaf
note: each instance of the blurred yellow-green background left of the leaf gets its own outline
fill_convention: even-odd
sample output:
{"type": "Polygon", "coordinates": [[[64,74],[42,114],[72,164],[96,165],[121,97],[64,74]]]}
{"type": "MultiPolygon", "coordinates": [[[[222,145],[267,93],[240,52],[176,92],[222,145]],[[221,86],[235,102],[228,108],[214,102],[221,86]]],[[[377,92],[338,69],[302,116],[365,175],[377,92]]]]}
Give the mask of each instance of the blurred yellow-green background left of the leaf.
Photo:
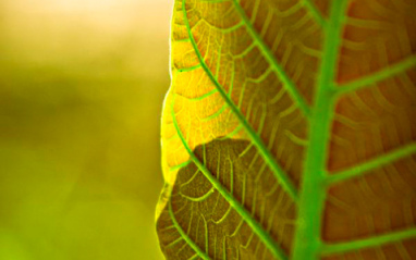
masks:
{"type": "Polygon", "coordinates": [[[162,259],[172,0],[0,1],[0,259],[162,259]]]}

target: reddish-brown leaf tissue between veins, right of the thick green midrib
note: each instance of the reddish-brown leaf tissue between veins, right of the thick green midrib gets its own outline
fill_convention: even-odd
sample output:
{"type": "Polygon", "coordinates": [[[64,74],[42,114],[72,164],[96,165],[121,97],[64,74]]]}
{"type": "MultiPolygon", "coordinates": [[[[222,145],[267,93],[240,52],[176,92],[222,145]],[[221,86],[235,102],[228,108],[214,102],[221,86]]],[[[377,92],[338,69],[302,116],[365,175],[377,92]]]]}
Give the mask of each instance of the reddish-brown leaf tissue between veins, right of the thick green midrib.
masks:
{"type": "MultiPolygon", "coordinates": [[[[415,55],[415,12],[413,1],[352,1],[344,27],[338,82],[342,84],[371,75],[415,55]]],[[[330,139],[330,173],[414,143],[415,111],[415,67],[340,98],[330,139]]],[[[350,240],[413,227],[416,223],[415,191],[415,156],[331,187],[323,219],[323,239],[350,240]]],[[[413,259],[416,258],[415,245],[400,243],[375,248],[374,253],[367,250],[364,256],[365,259],[382,259],[383,255],[386,259],[413,259]],[[394,253],[401,257],[390,258],[394,253]]]]}

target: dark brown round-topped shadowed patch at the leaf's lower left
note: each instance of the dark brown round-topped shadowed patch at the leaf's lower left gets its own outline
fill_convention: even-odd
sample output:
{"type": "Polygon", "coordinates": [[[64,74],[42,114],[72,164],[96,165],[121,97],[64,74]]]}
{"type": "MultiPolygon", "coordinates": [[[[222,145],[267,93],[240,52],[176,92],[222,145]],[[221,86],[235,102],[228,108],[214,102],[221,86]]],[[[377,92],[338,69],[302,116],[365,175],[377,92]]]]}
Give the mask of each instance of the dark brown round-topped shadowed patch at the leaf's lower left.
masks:
{"type": "MultiPolygon", "coordinates": [[[[195,149],[199,160],[231,194],[261,223],[287,252],[295,224],[295,206],[270,171],[253,161],[255,149],[246,151],[248,141],[213,140],[195,149]],[[209,154],[209,157],[208,157],[209,154]]],[[[192,239],[213,259],[270,259],[272,255],[238,213],[212,187],[192,163],[178,173],[170,195],[175,221],[192,239]],[[203,199],[208,195],[207,199],[203,199]],[[208,240],[206,240],[208,239],[208,240]]],[[[169,208],[169,206],[167,207],[169,208]]],[[[169,210],[158,219],[164,255],[188,259],[195,252],[181,239],[169,210]]]]}

